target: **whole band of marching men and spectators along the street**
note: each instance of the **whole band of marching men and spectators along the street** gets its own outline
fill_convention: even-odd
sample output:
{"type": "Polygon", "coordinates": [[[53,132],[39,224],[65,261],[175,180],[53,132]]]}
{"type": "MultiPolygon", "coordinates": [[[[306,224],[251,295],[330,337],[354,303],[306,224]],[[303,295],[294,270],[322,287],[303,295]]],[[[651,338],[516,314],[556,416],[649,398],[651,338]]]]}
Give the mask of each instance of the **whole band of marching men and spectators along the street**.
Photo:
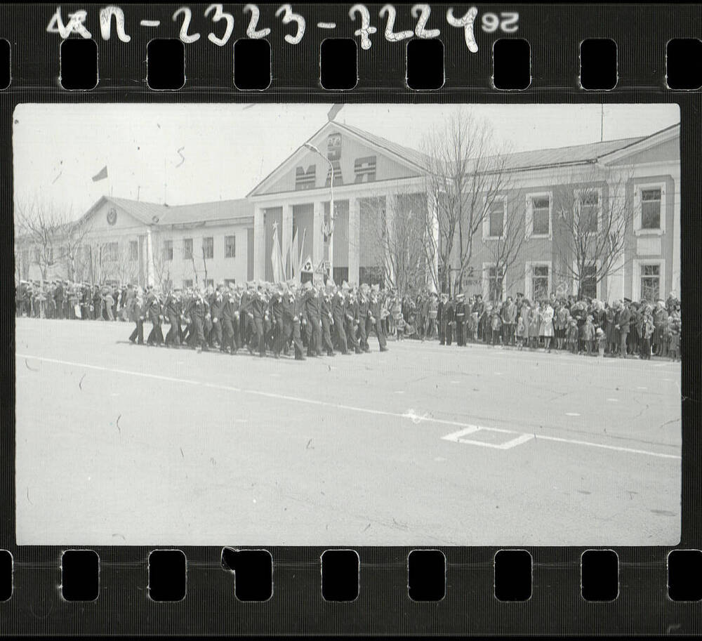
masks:
{"type": "MultiPolygon", "coordinates": [[[[304,272],[303,272],[304,273],[304,272]]],[[[482,343],[558,354],[680,360],[680,300],[628,298],[613,304],[576,296],[503,303],[422,291],[399,296],[378,285],[305,282],[224,283],[159,291],[153,286],[22,281],[18,316],[133,322],[129,341],[166,348],[240,350],[263,357],[362,354],[388,339],[482,343]],[[146,326],[145,326],[146,324],[146,326]],[[291,349],[293,348],[293,349],[291,349]]]]}

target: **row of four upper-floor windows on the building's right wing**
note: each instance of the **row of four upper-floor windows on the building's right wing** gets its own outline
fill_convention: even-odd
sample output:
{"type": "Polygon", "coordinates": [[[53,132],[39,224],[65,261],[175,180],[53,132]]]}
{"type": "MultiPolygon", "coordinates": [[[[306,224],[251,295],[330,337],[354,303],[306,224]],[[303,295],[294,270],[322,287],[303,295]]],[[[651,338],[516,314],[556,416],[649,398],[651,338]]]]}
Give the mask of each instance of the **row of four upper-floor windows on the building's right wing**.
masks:
{"type": "MultiPolygon", "coordinates": [[[[661,187],[642,189],[638,192],[640,220],[637,228],[641,230],[661,230],[661,211],[663,190],[661,187]]],[[[597,232],[600,213],[599,192],[584,192],[578,195],[578,232],[597,232]]],[[[501,238],[505,234],[505,201],[496,199],[489,206],[484,236],[501,238]]],[[[550,236],[551,234],[551,197],[538,195],[529,197],[527,202],[527,234],[529,236],[550,236]]]]}

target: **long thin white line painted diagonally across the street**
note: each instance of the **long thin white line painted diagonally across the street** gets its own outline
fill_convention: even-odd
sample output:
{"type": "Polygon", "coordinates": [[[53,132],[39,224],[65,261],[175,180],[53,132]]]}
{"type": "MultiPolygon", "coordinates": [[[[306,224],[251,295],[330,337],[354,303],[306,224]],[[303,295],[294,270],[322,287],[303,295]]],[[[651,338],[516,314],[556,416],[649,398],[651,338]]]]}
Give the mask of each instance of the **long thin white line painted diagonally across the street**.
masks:
{"type": "MultiPolygon", "coordinates": [[[[241,394],[251,394],[251,395],[256,395],[256,396],[263,396],[267,398],[274,398],[274,399],[281,399],[281,400],[286,400],[286,401],[292,401],[292,402],[297,402],[297,403],[304,403],[304,404],[309,404],[309,405],[317,405],[320,407],[333,407],[335,409],[344,409],[347,411],[356,411],[356,412],[361,412],[362,414],[371,414],[373,416],[392,416],[393,418],[409,418],[406,414],[397,414],[397,412],[392,412],[392,411],[383,411],[380,409],[369,409],[367,407],[355,407],[353,405],[345,405],[345,404],[340,404],[340,403],[331,403],[328,401],[319,401],[315,399],[309,399],[309,398],[303,398],[303,397],[297,397],[297,396],[290,396],[286,394],[277,394],[275,392],[263,392],[263,390],[243,390],[241,388],[236,388],[233,385],[218,385],[216,383],[204,383],[202,381],[192,381],[188,378],[174,378],[173,376],[162,376],[161,374],[147,374],[147,372],[141,372],[141,371],[130,371],[127,369],[116,369],[113,367],[105,367],[105,366],[100,366],[100,365],[88,365],[86,363],[77,363],[77,362],[72,362],[72,361],[65,361],[61,359],[54,359],[54,358],[47,358],[47,357],[41,357],[41,356],[32,356],[29,354],[19,354],[15,353],[16,358],[31,358],[37,361],[41,362],[47,362],[47,363],[57,363],[60,365],[69,365],[73,367],[84,367],[85,369],[94,369],[97,371],[110,371],[113,372],[114,374],[125,374],[126,376],[141,376],[143,378],[154,378],[158,381],[170,381],[172,383],[184,383],[185,385],[202,385],[203,387],[207,388],[213,388],[217,390],[225,390],[229,392],[239,392],[241,394]]],[[[659,458],[677,458],[680,459],[682,458],[678,454],[662,454],[661,452],[653,452],[653,451],[647,451],[643,449],[633,449],[629,447],[616,447],[614,445],[605,445],[601,443],[592,443],[588,441],[580,441],[580,440],[574,440],[574,439],[566,439],[566,438],[559,438],[555,436],[541,436],[541,435],[534,435],[534,434],[527,434],[527,432],[517,432],[516,430],[505,430],[502,428],[486,428],[484,426],[479,426],[479,425],[471,425],[470,423],[461,423],[461,421],[448,421],[443,418],[432,418],[431,416],[417,416],[413,414],[413,423],[420,423],[423,421],[426,421],[427,423],[436,423],[437,425],[453,425],[458,428],[461,428],[460,432],[454,432],[453,434],[449,434],[449,437],[456,437],[456,438],[447,438],[447,437],[442,437],[444,440],[458,440],[458,437],[460,435],[465,435],[465,434],[470,434],[472,432],[477,432],[477,430],[486,430],[490,432],[502,432],[505,434],[517,434],[517,435],[522,435],[522,436],[529,436],[533,437],[534,440],[546,440],[546,441],[556,441],[556,442],[562,442],[562,443],[569,443],[569,444],[574,444],[574,445],[583,445],[585,447],[599,447],[602,449],[610,449],[614,451],[623,451],[623,452],[628,452],[630,454],[644,454],[647,456],[657,456],[659,458]],[[419,419],[419,420],[417,420],[419,419]]],[[[514,440],[517,440],[516,438],[514,440]]],[[[513,445],[510,447],[514,447],[513,445]]]]}

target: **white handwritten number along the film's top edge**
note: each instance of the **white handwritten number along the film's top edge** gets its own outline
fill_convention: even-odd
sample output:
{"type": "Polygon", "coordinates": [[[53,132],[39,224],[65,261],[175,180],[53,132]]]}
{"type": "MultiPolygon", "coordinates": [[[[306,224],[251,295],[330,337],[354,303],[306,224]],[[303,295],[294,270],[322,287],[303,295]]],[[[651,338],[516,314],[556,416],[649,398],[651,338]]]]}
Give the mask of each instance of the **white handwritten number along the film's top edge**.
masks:
{"type": "MultiPolygon", "coordinates": [[[[258,28],[258,20],[260,19],[260,10],[256,4],[246,4],[244,6],[244,14],[250,13],[249,25],[246,27],[246,36],[251,39],[265,38],[271,33],[270,27],[258,28]]],[[[388,42],[400,42],[412,37],[421,39],[438,38],[441,31],[437,28],[430,29],[427,25],[432,13],[431,7],[428,4],[415,4],[410,10],[411,16],[416,19],[414,30],[406,29],[404,31],[395,31],[395,20],[397,19],[397,11],[392,4],[386,4],[378,13],[381,20],[385,19],[384,35],[388,42]]],[[[453,7],[449,7],[446,11],[446,22],[451,27],[463,29],[465,37],[465,45],[471,53],[477,53],[478,45],[475,41],[475,21],[477,20],[477,8],[470,7],[460,18],[456,17],[453,7]]],[[[371,25],[371,13],[368,7],[364,4],[354,4],[348,13],[352,22],[360,23],[355,29],[354,35],[360,37],[361,48],[371,48],[371,35],[375,34],[378,29],[371,25]]],[[[84,9],[79,9],[68,14],[67,22],[64,22],[61,15],[61,8],[56,8],[56,11],[51,16],[46,31],[49,33],[58,33],[60,37],[66,39],[70,34],[79,34],[86,39],[92,38],[91,32],[86,27],[86,18],[88,12],[84,9]]],[[[207,39],[217,46],[223,47],[230,41],[234,32],[234,16],[231,13],[224,11],[224,5],[211,4],[204,11],[204,17],[211,20],[213,23],[224,21],[224,33],[219,36],[213,32],[207,34],[207,39]]],[[[299,13],[293,11],[291,4],[282,4],[277,8],[275,17],[280,18],[284,25],[289,25],[294,22],[296,31],[294,34],[286,33],[284,39],[289,44],[298,44],[302,41],[305,35],[305,18],[299,13]]],[[[131,37],[124,30],[124,11],[118,6],[107,6],[100,9],[100,35],[103,40],[109,40],[112,36],[112,18],[114,18],[115,32],[117,37],[122,42],[129,42],[131,37]]],[[[180,22],[180,32],[178,37],[185,44],[190,44],[199,40],[199,33],[188,33],[190,22],[192,20],[192,11],[190,7],[182,6],[171,16],[173,22],[180,22]]],[[[143,26],[157,27],[160,24],[159,20],[142,20],[143,26]],[[146,24],[146,23],[150,24],[146,24]]],[[[331,23],[332,26],[333,23],[331,23]]],[[[499,15],[496,13],[484,13],[480,18],[480,27],[485,33],[494,33],[498,29],[505,33],[514,33],[519,29],[519,13],[512,11],[503,11],[499,15]]]]}

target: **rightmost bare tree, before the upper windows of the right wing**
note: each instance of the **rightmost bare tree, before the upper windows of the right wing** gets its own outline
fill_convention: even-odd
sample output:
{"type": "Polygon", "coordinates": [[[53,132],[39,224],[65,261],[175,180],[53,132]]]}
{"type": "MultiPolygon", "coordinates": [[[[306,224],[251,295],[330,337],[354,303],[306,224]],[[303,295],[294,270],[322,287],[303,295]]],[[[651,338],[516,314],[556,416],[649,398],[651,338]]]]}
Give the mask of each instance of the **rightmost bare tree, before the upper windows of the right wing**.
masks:
{"type": "Polygon", "coordinates": [[[557,272],[576,284],[578,298],[588,284],[597,286],[623,266],[633,210],[625,197],[627,181],[625,172],[595,166],[586,178],[557,190],[557,272]]]}

